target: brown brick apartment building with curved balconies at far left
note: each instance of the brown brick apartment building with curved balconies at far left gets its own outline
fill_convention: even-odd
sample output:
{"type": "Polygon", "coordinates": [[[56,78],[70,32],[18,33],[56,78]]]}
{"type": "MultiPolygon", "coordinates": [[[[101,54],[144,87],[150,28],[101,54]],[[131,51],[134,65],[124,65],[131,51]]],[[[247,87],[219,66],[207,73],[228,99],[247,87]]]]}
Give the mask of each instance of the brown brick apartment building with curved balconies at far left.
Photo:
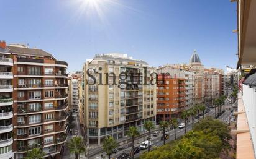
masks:
{"type": "Polygon", "coordinates": [[[9,45],[6,50],[1,60],[9,66],[1,66],[5,75],[1,97],[5,100],[0,104],[4,109],[1,140],[9,139],[4,142],[9,146],[4,152],[13,152],[12,158],[24,158],[27,150],[42,148],[45,158],[62,158],[68,129],[68,64],[25,45],[9,45]]]}

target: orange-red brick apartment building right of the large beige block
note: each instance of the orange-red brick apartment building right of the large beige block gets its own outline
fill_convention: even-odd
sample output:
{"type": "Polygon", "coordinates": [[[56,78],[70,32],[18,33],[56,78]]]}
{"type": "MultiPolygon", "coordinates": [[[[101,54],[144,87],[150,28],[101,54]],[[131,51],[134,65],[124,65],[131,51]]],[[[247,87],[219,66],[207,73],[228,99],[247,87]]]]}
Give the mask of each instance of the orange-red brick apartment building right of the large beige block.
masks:
{"type": "Polygon", "coordinates": [[[158,74],[157,82],[157,123],[180,118],[185,109],[185,79],[158,74]]]}

